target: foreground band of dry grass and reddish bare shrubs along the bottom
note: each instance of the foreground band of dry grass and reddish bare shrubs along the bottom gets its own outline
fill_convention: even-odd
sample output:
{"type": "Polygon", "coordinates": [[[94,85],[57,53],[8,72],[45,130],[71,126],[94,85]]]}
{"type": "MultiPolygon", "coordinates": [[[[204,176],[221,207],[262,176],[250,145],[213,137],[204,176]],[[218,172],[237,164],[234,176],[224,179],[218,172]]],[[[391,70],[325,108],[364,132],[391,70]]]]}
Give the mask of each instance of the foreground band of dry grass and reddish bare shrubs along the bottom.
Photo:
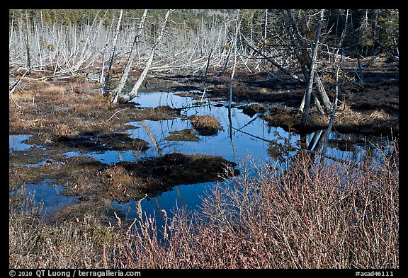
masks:
{"type": "MultiPolygon", "coordinates": [[[[390,151],[391,150],[391,151],[390,151]]],[[[142,212],[44,224],[29,198],[9,204],[11,268],[399,268],[399,151],[351,163],[297,156],[283,172],[246,164],[218,183],[202,212],[142,212]],[[23,207],[23,209],[21,209],[23,207]]],[[[256,166],[258,165],[258,166],[256,166]]]]}

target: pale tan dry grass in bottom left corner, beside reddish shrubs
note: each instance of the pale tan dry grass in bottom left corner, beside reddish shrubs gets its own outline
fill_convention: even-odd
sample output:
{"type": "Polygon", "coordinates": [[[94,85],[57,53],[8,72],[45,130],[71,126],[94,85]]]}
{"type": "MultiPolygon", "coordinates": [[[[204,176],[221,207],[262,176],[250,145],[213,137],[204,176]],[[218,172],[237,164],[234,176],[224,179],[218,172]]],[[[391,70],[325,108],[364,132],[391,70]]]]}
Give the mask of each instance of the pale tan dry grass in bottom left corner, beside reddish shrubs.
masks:
{"type": "Polygon", "coordinates": [[[23,213],[11,208],[9,217],[10,268],[103,268],[103,253],[111,252],[114,228],[101,226],[92,216],[59,226],[42,222],[30,200],[23,213]]]}

